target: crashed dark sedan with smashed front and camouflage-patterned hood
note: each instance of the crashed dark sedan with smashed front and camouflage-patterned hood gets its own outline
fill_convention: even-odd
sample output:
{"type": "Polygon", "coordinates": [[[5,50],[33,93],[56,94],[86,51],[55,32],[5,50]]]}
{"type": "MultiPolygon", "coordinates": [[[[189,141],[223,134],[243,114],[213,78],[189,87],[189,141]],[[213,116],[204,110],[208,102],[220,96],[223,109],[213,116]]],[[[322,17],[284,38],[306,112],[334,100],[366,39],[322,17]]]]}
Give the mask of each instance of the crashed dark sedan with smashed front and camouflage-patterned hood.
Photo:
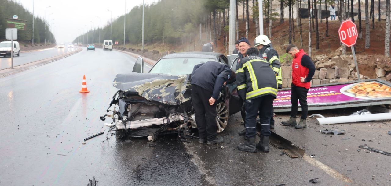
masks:
{"type": "MultiPolygon", "coordinates": [[[[158,135],[167,133],[192,135],[191,129],[197,128],[197,123],[191,101],[190,74],[195,65],[210,60],[228,64],[228,59],[220,53],[173,53],[158,60],[149,73],[143,73],[144,62],[139,57],[133,73],[115,77],[113,86],[119,90],[106,110],[113,114],[100,119],[111,117],[113,122],[106,126],[129,137],[148,136],[148,140],[155,140],[158,135]]],[[[235,83],[221,88],[216,104],[220,133],[226,128],[229,115],[240,111],[242,103],[235,83]]]]}

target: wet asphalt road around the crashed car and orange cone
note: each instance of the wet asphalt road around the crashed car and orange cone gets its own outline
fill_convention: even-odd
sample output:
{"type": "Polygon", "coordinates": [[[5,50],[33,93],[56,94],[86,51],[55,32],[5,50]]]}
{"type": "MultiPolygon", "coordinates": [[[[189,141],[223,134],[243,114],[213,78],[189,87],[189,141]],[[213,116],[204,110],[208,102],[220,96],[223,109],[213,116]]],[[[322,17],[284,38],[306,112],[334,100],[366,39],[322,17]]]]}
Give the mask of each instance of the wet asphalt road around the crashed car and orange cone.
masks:
{"type": "MultiPolygon", "coordinates": [[[[306,154],[316,154],[312,159],[280,156],[281,150],[275,148],[269,153],[237,151],[244,142],[237,135],[243,128],[238,113],[220,134],[225,136],[224,149],[195,139],[180,142],[175,135],[160,137],[155,147],[149,147],[146,138],[121,142],[110,133],[106,140],[107,128],[99,116],[106,113],[117,91],[112,87],[115,75],[131,72],[134,62],[118,51],[83,50],[2,78],[0,185],[86,185],[93,177],[98,185],[118,186],[312,185],[308,180],[317,177],[321,182],[316,185],[391,184],[391,157],[357,151],[358,145],[367,143],[391,152],[387,135],[391,122],[318,126],[309,119],[303,130],[276,125],[276,133],[304,147],[306,154]],[[78,92],[83,74],[88,94],[78,92]],[[336,127],[348,133],[330,137],[317,132],[336,127]],[[105,134],[83,144],[84,138],[100,131],[105,134]]],[[[277,113],[276,123],[287,117],[277,113]]]]}

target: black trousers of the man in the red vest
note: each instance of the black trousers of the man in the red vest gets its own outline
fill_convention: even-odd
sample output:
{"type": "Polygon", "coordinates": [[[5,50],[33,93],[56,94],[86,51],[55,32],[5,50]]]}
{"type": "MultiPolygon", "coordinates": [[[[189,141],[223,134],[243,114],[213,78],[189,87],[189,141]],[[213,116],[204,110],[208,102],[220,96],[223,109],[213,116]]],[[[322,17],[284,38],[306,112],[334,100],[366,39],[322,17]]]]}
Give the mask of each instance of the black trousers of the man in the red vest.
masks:
{"type": "Polygon", "coordinates": [[[297,101],[300,102],[301,106],[301,119],[307,119],[308,115],[308,105],[307,105],[307,93],[308,89],[304,87],[298,87],[292,83],[292,95],[291,95],[291,117],[296,118],[298,104],[297,101]]]}

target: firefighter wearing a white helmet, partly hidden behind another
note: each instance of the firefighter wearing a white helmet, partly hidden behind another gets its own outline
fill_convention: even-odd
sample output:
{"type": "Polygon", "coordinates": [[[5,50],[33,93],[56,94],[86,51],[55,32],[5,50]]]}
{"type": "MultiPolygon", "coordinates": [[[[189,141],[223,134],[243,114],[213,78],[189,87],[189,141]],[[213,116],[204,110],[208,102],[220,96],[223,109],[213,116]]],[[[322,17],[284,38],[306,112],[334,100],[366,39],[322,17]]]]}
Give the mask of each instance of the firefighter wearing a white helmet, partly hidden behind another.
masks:
{"type": "MultiPolygon", "coordinates": [[[[282,89],[282,71],[278,53],[274,50],[267,35],[258,35],[254,40],[254,46],[259,50],[259,57],[268,61],[277,76],[278,89],[282,89]]],[[[270,128],[274,129],[274,110],[271,111],[270,128]]]]}

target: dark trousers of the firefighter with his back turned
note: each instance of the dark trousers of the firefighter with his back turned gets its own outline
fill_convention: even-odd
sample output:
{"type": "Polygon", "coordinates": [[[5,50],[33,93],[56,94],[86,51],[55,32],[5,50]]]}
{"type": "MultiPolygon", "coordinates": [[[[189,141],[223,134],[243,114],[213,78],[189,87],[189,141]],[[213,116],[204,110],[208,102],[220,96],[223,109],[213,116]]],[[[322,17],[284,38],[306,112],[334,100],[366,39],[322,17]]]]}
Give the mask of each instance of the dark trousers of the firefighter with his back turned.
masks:
{"type": "Polygon", "coordinates": [[[274,97],[266,95],[246,101],[246,137],[255,137],[256,133],[256,115],[259,111],[259,119],[261,123],[261,135],[270,136],[270,116],[273,110],[274,97]]]}

